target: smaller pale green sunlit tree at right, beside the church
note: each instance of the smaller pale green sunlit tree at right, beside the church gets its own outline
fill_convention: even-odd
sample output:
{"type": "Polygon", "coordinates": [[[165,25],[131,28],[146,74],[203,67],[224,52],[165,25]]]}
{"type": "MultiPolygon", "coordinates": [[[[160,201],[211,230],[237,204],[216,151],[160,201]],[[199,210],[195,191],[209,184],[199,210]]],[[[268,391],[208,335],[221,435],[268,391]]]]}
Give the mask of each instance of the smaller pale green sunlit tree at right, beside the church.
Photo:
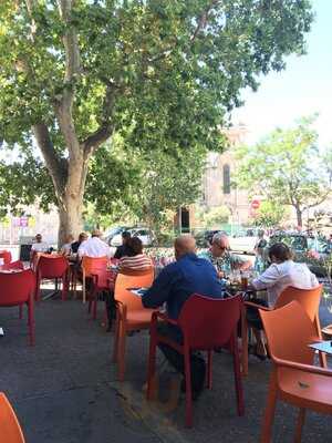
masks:
{"type": "Polygon", "coordinates": [[[303,212],[331,193],[331,154],[320,153],[313,121],[302,119],[292,128],[277,128],[257,145],[240,146],[236,153],[238,186],[274,206],[292,206],[299,226],[303,212]]]}

